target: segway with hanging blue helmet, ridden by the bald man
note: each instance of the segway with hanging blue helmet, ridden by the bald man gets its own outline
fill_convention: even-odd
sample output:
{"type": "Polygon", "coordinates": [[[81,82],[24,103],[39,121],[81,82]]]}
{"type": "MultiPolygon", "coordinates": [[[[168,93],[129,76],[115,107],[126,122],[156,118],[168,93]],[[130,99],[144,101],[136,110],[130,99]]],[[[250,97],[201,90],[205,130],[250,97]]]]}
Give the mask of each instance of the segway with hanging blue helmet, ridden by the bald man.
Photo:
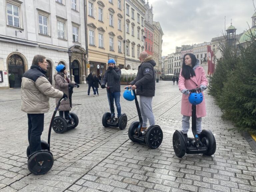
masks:
{"type": "MultiPolygon", "coordinates": [[[[124,92],[124,95],[129,94],[128,89],[130,89],[130,87],[127,87],[126,89],[127,90],[124,92]]],[[[130,127],[128,129],[128,136],[129,136],[130,140],[133,142],[146,144],[151,149],[155,149],[155,148],[159,147],[163,141],[163,131],[159,125],[152,125],[146,130],[146,133],[144,131],[140,132],[140,128],[142,126],[143,121],[142,121],[142,116],[141,116],[139,102],[138,102],[138,99],[136,96],[136,92],[135,92],[135,90],[132,90],[132,91],[133,91],[135,104],[136,104],[136,108],[137,108],[137,112],[138,112],[138,116],[139,116],[139,121],[132,122],[132,124],[130,125],[130,127]]],[[[130,90],[130,92],[131,92],[131,90],[130,90]]],[[[132,101],[133,97],[129,96],[129,98],[125,97],[125,99],[127,99],[128,101],[132,101]]]]}

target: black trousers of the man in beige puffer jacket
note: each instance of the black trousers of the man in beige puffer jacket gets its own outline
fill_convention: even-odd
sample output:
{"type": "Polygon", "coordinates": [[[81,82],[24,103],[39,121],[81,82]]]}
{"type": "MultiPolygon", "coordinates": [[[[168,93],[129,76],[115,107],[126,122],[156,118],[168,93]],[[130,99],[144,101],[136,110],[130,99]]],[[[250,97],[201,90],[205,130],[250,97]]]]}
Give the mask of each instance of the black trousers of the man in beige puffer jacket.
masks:
{"type": "Polygon", "coordinates": [[[30,154],[41,150],[41,135],[44,130],[44,113],[28,113],[28,142],[30,154]]]}

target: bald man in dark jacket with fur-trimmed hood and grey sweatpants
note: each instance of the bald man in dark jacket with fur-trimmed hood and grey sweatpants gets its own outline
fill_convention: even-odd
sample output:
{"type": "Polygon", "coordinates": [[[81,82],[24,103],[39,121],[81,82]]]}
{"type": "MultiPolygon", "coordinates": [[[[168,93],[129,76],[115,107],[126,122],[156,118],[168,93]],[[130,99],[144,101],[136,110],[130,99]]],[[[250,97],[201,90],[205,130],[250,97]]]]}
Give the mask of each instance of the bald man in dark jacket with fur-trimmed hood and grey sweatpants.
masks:
{"type": "MultiPolygon", "coordinates": [[[[140,131],[147,130],[147,121],[150,126],[155,125],[155,117],[152,111],[152,99],[155,96],[155,70],[156,65],[152,55],[142,51],[139,57],[141,64],[136,78],[126,87],[137,89],[136,94],[140,96],[140,111],[142,116],[142,127],[140,131]]],[[[125,88],[126,88],[125,87],[125,88]]]]}

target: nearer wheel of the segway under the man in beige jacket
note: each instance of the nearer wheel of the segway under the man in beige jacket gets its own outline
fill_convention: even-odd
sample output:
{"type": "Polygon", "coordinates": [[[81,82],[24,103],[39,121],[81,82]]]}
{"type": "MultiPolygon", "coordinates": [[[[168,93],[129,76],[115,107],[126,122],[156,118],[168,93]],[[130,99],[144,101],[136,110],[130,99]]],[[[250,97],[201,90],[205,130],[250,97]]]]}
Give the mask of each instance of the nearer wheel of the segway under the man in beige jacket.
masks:
{"type": "Polygon", "coordinates": [[[34,175],[47,173],[53,166],[53,155],[49,151],[38,151],[28,159],[28,170],[34,175]]]}

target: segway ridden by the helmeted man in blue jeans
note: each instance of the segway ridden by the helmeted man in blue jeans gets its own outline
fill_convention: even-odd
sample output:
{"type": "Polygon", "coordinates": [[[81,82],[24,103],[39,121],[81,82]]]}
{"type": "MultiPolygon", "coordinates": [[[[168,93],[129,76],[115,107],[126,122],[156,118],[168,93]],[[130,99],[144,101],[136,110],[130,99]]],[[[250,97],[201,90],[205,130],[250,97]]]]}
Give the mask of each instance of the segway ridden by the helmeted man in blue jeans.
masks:
{"type": "Polygon", "coordinates": [[[125,129],[127,125],[127,116],[125,113],[121,114],[119,117],[118,121],[116,118],[114,118],[114,102],[112,100],[112,95],[111,95],[111,88],[112,87],[106,87],[107,88],[107,94],[109,94],[109,100],[110,100],[110,112],[105,112],[103,117],[102,117],[102,125],[104,127],[119,127],[119,129],[123,130],[125,129]]]}

